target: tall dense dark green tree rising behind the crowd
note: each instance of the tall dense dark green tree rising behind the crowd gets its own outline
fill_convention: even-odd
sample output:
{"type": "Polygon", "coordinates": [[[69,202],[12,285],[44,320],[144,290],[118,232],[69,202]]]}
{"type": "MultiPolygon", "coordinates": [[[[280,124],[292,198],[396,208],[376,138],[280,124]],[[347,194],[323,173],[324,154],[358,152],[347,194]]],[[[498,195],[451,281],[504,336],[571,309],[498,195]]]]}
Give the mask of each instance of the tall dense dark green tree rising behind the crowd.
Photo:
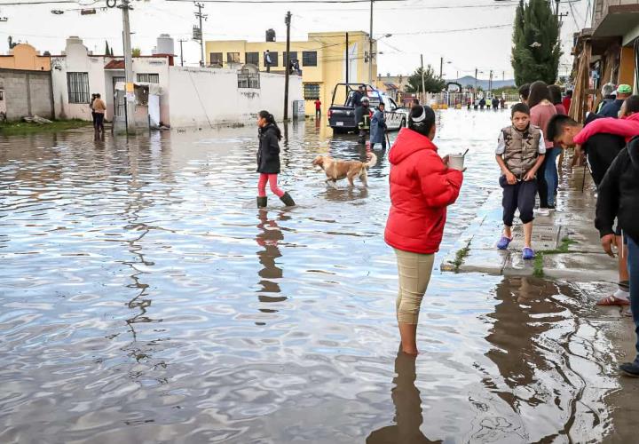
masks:
{"type": "Polygon", "coordinates": [[[548,0],[519,0],[513,25],[511,63],[518,85],[555,83],[562,55],[559,24],[548,0]]]}

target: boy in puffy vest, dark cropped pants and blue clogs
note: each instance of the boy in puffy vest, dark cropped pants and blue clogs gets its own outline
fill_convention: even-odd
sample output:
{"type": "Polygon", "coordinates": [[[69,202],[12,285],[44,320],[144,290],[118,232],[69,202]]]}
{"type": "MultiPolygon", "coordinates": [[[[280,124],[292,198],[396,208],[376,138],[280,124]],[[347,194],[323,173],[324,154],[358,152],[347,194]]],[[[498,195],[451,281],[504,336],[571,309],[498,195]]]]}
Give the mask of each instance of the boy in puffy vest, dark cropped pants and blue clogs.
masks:
{"type": "Polygon", "coordinates": [[[543,133],[538,126],[530,123],[530,108],[525,103],[517,103],[511,109],[512,125],[500,132],[495,157],[501,168],[500,185],[503,188],[504,231],[497,242],[500,250],[508,249],[512,241],[512,224],[515,211],[524,224],[525,260],[534,258],[531,248],[533,236],[533,210],[537,181],[535,175],[546,155],[543,133]]]}

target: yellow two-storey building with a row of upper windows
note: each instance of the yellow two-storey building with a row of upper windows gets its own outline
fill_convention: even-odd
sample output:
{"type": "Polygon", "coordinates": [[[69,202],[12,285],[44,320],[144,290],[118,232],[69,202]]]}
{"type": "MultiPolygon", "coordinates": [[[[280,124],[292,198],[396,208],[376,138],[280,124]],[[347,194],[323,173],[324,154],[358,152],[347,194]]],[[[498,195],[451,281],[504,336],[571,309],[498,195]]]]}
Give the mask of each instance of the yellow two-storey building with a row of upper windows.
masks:
{"type": "MultiPolygon", "coordinates": [[[[206,42],[207,64],[213,67],[240,68],[253,64],[260,71],[285,73],[286,41],[275,42],[274,33],[267,42],[247,42],[227,40],[206,42]],[[269,52],[271,66],[265,64],[265,53],[269,52]]],[[[290,43],[290,59],[297,60],[297,75],[302,75],[306,115],[315,115],[315,99],[322,102],[322,115],[326,116],[330,107],[336,83],[368,83],[369,67],[372,61],[373,85],[377,82],[377,63],[369,54],[368,34],[355,32],[309,33],[308,40],[290,43]],[[348,63],[346,41],[348,39],[348,63]]],[[[373,42],[373,54],[377,45],[373,42]]],[[[338,94],[344,95],[340,89],[338,94]]],[[[343,101],[337,97],[337,101],[343,101]]]]}

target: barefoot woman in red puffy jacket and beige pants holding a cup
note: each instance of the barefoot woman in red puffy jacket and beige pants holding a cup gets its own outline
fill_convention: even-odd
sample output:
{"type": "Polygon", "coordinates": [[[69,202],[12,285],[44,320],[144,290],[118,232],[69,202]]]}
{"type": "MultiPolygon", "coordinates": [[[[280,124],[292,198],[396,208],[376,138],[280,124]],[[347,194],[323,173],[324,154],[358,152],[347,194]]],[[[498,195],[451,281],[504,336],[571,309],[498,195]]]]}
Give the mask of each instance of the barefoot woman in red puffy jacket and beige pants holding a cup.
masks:
{"type": "Polygon", "coordinates": [[[408,127],[390,150],[390,214],[384,239],[397,254],[397,317],[404,353],[417,354],[416,335],[422,297],[446,224],[446,207],[459,195],[463,175],[448,168],[435,138],[435,113],[411,109],[408,127]]]}

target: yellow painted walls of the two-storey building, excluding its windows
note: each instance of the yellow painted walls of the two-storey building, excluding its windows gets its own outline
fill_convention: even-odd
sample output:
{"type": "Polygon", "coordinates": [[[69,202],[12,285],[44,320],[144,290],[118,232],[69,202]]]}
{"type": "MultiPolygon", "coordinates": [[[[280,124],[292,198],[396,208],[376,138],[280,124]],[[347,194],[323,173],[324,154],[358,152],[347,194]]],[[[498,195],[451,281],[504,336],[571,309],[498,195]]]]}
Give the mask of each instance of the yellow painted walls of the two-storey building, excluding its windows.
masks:
{"type": "MultiPolygon", "coordinates": [[[[357,52],[351,53],[351,64],[357,63],[357,75],[351,72],[349,82],[368,83],[368,63],[365,62],[365,52],[368,52],[367,33],[349,31],[349,46],[351,52],[357,47],[357,52]],[[356,60],[356,61],[354,61],[356,60]]],[[[286,52],[286,41],[284,42],[247,42],[245,40],[226,40],[206,42],[206,58],[210,64],[211,52],[222,52],[222,60],[226,67],[226,54],[228,52],[240,52],[240,62],[246,62],[247,52],[257,52],[260,71],[265,71],[264,52],[278,53],[278,63],[271,67],[271,72],[283,73],[284,52],[286,52]]],[[[322,102],[322,115],[326,118],[328,107],[330,107],[333,89],[336,83],[345,81],[345,60],[346,60],[346,31],[310,33],[308,40],[304,42],[291,42],[290,51],[297,52],[300,69],[302,70],[303,83],[319,84],[319,100],[322,102]],[[317,52],[317,66],[305,67],[302,52],[317,52]]],[[[373,52],[376,52],[376,44],[373,45],[373,52]]],[[[376,84],[377,64],[373,61],[373,85],[376,84]]],[[[340,99],[343,99],[343,94],[340,99]]],[[[306,99],[306,115],[315,115],[314,99],[306,99]]]]}

